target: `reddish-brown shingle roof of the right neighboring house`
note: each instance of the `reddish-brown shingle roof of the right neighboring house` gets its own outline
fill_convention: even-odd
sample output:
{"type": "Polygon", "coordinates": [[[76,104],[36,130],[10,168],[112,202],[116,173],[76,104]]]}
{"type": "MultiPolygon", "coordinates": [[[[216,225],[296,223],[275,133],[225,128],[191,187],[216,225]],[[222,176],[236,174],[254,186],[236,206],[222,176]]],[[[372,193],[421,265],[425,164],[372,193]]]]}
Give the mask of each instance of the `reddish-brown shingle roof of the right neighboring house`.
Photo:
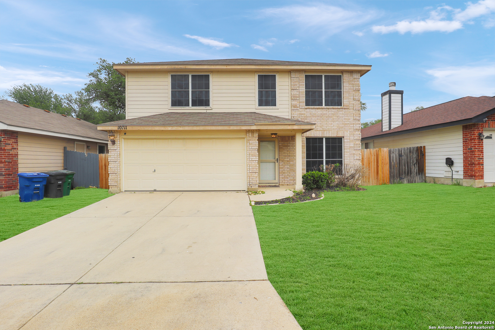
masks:
{"type": "Polygon", "coordinates": [[[405,113],[403,124],[390,131],[382,132],[382,123],[363,128],[361,139],[402,131],[408,133],[405,131],[440,124],[452,123],[452,125],[456,125],[455,122],[472,119],[490,110],[495,110],[495,96],[461,97],[405,113]]]}

